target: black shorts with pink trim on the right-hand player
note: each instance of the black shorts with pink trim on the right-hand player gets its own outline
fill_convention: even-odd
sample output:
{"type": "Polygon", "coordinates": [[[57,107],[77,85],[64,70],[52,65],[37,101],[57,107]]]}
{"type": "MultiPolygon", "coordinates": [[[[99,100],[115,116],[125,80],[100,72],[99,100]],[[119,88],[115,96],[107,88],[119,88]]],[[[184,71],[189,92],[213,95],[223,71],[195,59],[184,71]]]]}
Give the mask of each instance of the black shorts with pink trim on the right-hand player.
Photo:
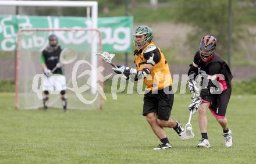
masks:
{"type": "Polygon", "coordinates": [[[209,97],[205,98],[203,102],[210,102],[209,109],[215,118],[225,119],[227,104],[229,104],[229,99],[231,96],[231,86],[224,90],[221,94],[211,94],[209,97]]]}

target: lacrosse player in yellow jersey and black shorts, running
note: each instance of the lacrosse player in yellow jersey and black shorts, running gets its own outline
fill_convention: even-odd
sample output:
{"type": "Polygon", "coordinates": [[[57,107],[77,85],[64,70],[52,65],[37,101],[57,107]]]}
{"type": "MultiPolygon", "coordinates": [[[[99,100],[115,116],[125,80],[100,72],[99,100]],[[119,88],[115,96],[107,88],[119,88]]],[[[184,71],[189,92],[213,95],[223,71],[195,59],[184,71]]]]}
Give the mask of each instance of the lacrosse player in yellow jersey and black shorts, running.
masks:
{"type": "Polygon", "coordinates": [[[173,105],[172,77],[169,65],[162,51],[152,42],[153,33],[150,27],[139,26],[134,31],[133,41],[136,69],[117,66],[112,69],[118,74],[124,74],[127,79],[132,74],[134,80],[144,79],[147,85],[144,95],[143,116],[146,116],[151,129],[157,135],[161,144],[154,149],[172,148],[163,127],[173,128],[181,138],[182,125],[170,119],[173,105]]]}

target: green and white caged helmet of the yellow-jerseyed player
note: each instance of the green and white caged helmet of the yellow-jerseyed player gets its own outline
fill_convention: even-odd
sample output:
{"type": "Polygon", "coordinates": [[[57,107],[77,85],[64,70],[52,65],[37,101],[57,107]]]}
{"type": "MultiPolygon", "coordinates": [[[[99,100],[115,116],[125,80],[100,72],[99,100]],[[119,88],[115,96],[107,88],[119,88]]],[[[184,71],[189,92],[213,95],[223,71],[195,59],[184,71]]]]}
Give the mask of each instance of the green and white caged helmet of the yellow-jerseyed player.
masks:
{"type": "Polygon", "coordinates": [[[153,33],[150,27],[139,26],[133,34],[133,44],[135,48],[143,48],[147,43],[153,39],[153,33]]]}

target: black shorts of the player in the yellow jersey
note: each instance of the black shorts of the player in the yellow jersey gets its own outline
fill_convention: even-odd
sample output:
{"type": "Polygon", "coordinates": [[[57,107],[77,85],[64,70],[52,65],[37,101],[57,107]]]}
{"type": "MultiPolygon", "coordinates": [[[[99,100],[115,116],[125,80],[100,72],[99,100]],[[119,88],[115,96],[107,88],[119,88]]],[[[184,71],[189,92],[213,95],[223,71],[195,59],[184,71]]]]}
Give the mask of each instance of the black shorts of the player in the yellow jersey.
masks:
{"type": "MultiPolygon", "coordinates": [[[[163,90],[158,90],[157,93],[150,91],[144,95],[143,116],[155,112],[159,120],[169,120],[174,95],[166,94],[163,90]]],[[[169,90],[172,90],[172,87],[169,87],[169,90]]]]}

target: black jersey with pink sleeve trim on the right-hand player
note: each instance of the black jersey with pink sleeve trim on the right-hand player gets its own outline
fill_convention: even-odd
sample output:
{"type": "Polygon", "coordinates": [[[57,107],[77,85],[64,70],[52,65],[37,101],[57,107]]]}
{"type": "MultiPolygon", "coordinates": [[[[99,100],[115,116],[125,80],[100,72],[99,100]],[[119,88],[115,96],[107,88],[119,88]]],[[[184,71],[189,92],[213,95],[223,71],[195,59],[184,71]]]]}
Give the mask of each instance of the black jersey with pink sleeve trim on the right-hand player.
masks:
{"type": "Polygon", "coordinates": [[[218,54],[215,53],[214,58],[212,58],[209,62],[203,62],[200,58],[200,52],[197,51],[194,56],[194,63],[198,65],[198,74],[206,74],[211,76],[219,74],[219,76],[217,76],[217,81],[223,87],[222,90],[226,90],[230,87],[233,75],[227,63],[218,54]],[[220,76],[220,74],[223,74],[224,79],[220,76]]]}

